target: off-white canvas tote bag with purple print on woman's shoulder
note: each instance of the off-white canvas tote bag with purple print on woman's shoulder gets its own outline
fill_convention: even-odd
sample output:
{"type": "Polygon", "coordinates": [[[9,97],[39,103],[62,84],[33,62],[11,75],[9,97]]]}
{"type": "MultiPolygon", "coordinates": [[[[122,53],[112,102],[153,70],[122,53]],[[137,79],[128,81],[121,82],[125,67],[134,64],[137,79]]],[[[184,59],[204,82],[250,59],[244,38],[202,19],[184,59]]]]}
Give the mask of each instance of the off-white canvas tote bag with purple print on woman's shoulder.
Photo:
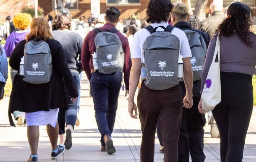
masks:
{"type": "Polygon", "coordinates": [[[202,91],[202,109],[209,112],[221,102],[221,73],[220,73],[221,45],[219,36],[217,37],[216,47],[212,63],[202,91]]]}

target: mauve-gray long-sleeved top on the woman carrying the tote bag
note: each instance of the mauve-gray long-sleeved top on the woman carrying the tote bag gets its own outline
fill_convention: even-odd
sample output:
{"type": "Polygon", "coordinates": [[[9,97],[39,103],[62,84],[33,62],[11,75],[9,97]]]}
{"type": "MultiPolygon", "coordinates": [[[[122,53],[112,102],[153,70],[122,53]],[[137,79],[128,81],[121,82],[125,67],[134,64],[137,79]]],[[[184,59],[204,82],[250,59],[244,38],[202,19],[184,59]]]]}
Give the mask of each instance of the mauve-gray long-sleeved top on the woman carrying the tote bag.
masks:
{"type": "MultiPolygon", "coordinates": [[[[256,65],[256,35],[251,33],[247,37],[253,42],[252,47],[243,43],[237,34],[230,37],[221,37],[221,72],[243,73],[253,76],[256,65]]],[[[217,37],[215,36],[207,50],[202,72],[201,93],[213,59],[216,41],[217,37]]]]}

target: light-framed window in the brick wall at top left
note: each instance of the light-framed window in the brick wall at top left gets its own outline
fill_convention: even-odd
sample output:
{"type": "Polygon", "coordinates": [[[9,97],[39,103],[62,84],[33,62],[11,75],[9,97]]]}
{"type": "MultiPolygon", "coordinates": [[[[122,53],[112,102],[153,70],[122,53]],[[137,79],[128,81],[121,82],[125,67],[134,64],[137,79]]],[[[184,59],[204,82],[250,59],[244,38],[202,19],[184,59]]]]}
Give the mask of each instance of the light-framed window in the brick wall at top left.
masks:
{"type": "Polygon", "coordinates": [[[78,10],[78,0],[52,0],[52,9],[60,10],[68,8],[69,10],[78,10]]]}

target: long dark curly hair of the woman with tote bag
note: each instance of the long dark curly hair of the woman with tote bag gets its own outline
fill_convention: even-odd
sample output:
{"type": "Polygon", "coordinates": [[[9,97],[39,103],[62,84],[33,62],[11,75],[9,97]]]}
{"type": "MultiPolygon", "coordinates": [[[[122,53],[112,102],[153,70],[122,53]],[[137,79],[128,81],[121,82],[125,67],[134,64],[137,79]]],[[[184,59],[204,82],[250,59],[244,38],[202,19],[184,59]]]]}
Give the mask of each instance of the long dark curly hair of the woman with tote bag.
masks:
{"type": "Polygon", "coordinates": [[[217,33],[221,36],[229,37],[234,33],[237,33],[239,38],[248,46],[252,46],[248,34],[252,33],[250,27],[253,25],[251,19],[253,18],[253,12],[248,5],[235,2],[232,3],[227,9],[227,18],[219,25],[217,33]]]}

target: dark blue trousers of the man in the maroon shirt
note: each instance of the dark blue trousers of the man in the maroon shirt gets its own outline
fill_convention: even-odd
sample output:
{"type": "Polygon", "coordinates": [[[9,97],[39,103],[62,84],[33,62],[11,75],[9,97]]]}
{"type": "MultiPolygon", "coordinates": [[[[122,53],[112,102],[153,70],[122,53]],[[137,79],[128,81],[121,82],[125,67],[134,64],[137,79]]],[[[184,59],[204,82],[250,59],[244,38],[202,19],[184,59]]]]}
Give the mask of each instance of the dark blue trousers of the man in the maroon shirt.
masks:
{"type": "Polygon", "coordinates": [[[104,135],[111,137],[114,129],[121,82],[121,71],[112,74],[95,72],[92,73],[90,78],[90,91],[93,97],[95,118],[101,134],[102,146],[105,146],[104,135]]]}

